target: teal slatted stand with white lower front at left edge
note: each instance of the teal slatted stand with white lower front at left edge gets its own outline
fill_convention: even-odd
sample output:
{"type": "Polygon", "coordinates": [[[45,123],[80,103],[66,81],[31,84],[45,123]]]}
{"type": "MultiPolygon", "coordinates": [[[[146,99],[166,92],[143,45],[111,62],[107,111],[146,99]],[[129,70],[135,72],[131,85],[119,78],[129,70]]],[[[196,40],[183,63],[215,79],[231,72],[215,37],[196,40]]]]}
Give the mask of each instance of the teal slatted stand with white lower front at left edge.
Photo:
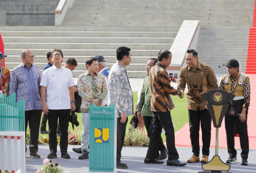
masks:
{"type": "Polygon", "coordinates": [[[26,172],[25,104],[16,94],[0,95],[0,169],[26,172]]]}

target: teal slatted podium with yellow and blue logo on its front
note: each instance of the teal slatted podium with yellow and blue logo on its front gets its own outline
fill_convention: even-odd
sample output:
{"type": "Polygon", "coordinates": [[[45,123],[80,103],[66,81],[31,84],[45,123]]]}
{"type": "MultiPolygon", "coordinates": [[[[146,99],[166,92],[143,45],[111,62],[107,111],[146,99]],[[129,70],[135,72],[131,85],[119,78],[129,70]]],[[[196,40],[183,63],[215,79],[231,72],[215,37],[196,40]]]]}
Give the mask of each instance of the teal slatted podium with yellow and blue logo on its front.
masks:
{"type": "Polygon", "coordinates": [[[90,105],[89,171],[115,170],[115,106],[90,105]]]}

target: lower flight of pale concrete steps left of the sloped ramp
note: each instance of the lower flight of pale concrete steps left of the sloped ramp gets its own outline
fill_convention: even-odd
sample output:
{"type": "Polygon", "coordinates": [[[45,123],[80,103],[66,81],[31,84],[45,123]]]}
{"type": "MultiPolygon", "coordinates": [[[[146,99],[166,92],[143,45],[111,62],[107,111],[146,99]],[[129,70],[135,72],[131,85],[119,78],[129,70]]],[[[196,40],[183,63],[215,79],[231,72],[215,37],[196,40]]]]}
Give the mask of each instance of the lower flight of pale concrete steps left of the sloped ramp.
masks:
{"type": "MultiPolygon", "coordinates": [[[[111,68],[116,62],[116,49],[126,46],[132,49],[132,62],[127,66],[128,75],[137,78],[146,76],[145,64],[150,57],[156,57],[159,50],[169,49],[172,46],[178,30],[178,28],[165,28],[165,32],[146,32],[145,28],[133,28],[132,30],[137,31],[99,32],[86,31],[90,30],[86,27],[40,27],[43,31],[38,31],[39,27],[11,27],[11,29],[14,31],[10,31],[10,27],[1,28],[5,54],[8,55],[6,67],[9,69],[15,68],[20,63],[20,53],[23,49],[31,49],[36,55],[34,64],[42,70],[47,62],[47,52],[60,48],[65,57],[63,62],[70,57],[77,60],[78,67],[73,72],[73,76],[78,77],[87,70],[85,62],[88,57],[101,54],[107,59],[108,67],[111,68]]],[[[112,29],[118,30],[118,28],[112,29]]],[[[159,28],[161,29],[163,28],[159,28]]]]}

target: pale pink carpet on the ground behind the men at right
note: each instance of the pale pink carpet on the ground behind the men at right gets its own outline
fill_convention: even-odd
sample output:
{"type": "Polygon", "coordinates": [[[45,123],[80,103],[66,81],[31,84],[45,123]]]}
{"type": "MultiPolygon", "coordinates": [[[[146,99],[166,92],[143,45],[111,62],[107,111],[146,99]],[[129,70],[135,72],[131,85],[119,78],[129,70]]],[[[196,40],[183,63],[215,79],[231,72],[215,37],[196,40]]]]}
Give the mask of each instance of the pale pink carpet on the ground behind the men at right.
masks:
{"type": "MultiPolygon", "coordinates": [[[[249,136],[249,148],[256,149],[256,74],[249,74],[251,84],[251,100],[249,106],[249,112],[247,117],[248,125],[248,136],[249,136]]],[[[225,118],[222,121],[221,127],[219,128],[219,148],[227,148],[226,143],[226,131],[225,131],[225,118]]],[[[200,147],[202,147],[202,133],[200,128],[200,147]]],[[[211,125],[211,142],[210,147],[215,147],[216,140],[216,128],[211,125]]],[[[235,147],[240,147],[239,137],[234,137],[235,147]]],[[[188,123],[182,127],[178,132],[175,133],[175,144],[176,146],[191,147],[189,138],[189,125],[188,123]]]]}

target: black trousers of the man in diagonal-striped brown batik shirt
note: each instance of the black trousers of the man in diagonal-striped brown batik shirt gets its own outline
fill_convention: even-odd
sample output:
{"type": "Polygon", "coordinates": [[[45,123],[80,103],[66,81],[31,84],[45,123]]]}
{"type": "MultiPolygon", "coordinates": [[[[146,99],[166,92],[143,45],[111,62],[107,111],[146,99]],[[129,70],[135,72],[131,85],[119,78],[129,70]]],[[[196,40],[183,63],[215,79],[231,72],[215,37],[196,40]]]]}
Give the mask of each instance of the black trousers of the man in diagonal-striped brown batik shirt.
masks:
{"type": "Polygon", "coordinates": [[[162,128],[166,136],[168,160],[179,159],[179,154],[175,147],[174,125],[170,112],[153,112],[153,129],[146,157],[150,159],[157,157],[162,128]]]}

